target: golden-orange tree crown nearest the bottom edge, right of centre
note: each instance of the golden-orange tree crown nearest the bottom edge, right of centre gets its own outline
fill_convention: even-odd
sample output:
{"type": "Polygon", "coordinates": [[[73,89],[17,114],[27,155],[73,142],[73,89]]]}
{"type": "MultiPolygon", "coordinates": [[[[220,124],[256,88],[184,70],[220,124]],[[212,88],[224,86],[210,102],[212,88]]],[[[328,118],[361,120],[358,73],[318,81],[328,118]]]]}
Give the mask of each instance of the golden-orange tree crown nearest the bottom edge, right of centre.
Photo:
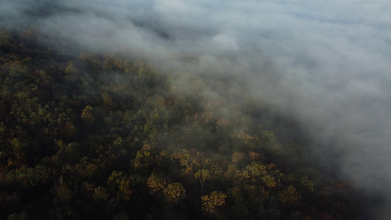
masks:
{"type": "Polygon", "coordinates": [[[216,216],[217,207],[225,204],[225,198],[227,196],[220,192],[214,191],[209,195],[201,197],[202,199],[202,210],[205,215],[216,216]]]}

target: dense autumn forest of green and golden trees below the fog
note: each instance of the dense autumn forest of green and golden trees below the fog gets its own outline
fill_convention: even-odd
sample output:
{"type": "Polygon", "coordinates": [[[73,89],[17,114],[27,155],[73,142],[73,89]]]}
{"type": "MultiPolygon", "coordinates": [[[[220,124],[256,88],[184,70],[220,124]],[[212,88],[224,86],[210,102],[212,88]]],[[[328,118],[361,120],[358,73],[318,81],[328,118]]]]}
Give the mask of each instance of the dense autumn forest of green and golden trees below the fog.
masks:
{"type": "Polygon", "coordinates": [[[0,219],[361,219],[233,81],[50,42],[0,32],[0,219]]]}

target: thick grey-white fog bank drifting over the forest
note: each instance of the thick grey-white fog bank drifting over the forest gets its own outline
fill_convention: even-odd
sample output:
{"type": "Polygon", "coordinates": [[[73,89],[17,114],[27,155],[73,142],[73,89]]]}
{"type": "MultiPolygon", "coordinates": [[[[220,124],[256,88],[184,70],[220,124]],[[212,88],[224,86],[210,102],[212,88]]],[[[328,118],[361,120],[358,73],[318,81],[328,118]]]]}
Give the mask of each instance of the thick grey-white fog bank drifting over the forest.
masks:
{"type": "MultiPolygon", "coordinates": [[[[2,0],[0,20],[161,70],[240,78],[305,126],[323,166],[391,200],[389,1],[2,0]]],[[[387,204],[374,218],[389,219],[387,204]]]]}

